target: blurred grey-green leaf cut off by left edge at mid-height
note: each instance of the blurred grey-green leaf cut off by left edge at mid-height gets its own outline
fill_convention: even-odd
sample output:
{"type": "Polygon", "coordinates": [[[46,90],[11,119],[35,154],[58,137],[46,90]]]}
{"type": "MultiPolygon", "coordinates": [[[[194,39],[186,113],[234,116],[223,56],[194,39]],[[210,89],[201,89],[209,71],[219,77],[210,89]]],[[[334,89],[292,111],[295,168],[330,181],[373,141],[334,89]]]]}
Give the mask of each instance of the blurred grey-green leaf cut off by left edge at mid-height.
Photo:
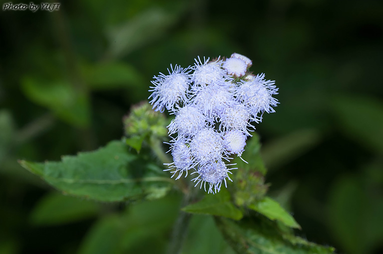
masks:
{"type": "Polygon", "coordinates": [[[14,126],[10,113],[6,110],[0,111],[0,163],[8,152],[9,146],[14,138],[14,126]]]}

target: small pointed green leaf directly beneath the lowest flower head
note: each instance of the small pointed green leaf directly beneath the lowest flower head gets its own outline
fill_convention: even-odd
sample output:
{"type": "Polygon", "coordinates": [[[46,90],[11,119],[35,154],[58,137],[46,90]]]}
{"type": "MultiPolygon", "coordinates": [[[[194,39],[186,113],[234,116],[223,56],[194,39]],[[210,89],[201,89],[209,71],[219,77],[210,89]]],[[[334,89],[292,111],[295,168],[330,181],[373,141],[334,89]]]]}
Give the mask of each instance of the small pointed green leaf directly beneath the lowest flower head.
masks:
{"type": "Polygon", "coordinates": [[[194,204],[187,205],[182,211],[194,214],[210,214],[240,220],[242,212],[235,207],[230,200],[230,193],[226,189],[212,195],[206,194],[205,197],[194,204]]]}

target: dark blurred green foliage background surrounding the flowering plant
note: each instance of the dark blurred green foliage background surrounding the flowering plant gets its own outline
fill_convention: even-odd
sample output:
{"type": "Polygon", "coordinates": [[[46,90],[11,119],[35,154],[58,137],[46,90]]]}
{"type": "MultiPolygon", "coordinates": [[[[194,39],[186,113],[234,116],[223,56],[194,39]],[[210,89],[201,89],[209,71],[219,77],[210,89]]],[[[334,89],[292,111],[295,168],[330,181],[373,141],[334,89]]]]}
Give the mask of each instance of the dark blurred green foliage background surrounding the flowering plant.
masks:
{"type": "MultiPolygon", "coordinates": [[[[54,12],[0,11],[0,254],[165,248],[175,191],[91,202],[59,194],[17,160],[58,161],[120,139],[153,75],[233,52],[280,88],[257,132],[269,195],[294,214],[296,234],[338,253],[382,252],[382,1],[66,0],[54,12]]],[[[214,225],[243,228],[217,220],[194,215],[183,253],[232,253],[214,225]]]]}

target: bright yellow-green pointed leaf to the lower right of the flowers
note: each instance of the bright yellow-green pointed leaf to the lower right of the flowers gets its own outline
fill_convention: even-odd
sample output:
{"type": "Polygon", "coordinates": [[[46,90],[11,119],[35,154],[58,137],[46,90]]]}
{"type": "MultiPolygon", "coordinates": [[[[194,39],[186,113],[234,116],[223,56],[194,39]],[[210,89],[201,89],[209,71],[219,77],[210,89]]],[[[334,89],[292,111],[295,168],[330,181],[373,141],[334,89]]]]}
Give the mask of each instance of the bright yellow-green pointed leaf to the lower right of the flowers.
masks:
{"type": "Polygon", "coordinates": [[[260,214],[263,214],[270,220],[278,220],[288,227],[301,229],[301,226],[299,226],[293,216],[283,209],[278,202],[269,197],[264,197],[262,200],[248,205],[248,207],[260,214]]]}

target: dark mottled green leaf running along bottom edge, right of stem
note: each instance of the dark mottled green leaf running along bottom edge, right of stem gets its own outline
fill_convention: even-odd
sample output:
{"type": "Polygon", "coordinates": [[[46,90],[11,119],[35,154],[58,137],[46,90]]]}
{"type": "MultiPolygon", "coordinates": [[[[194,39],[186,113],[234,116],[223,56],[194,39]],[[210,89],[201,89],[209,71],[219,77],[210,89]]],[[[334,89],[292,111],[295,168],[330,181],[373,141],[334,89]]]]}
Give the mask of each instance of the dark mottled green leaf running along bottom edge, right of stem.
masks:
{"type": "Polygon", "coordinates": [[[218,228],[231,247],[241,254],[332,254],[334,248],[324,247],[286,233],[262,219],[239,222],[216,217],[218,228]]]}

